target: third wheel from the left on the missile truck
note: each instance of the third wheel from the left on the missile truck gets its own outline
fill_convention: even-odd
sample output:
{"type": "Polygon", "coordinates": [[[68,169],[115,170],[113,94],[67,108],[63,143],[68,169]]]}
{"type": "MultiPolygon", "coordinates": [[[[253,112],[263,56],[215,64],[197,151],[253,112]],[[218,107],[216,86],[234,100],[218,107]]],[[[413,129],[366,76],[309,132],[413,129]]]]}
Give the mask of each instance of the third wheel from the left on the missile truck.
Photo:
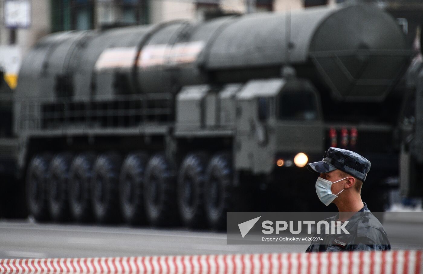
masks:
{"type": "Polygon", "coordinates": [[[77,222],[93,219],[91,178],[94,160],[93,153],[82,153],[74,158],[69,170],[69,209],[72,219],[77,222]]]}

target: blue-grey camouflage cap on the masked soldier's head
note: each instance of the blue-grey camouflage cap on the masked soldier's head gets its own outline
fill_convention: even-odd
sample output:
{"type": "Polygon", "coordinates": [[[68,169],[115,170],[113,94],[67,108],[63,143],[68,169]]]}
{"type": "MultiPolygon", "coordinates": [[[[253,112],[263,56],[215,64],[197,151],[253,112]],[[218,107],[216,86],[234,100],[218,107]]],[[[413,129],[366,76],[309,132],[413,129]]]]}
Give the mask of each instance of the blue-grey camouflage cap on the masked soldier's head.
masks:
{"type": "Polygon", "coordinates": [[[370,170],[370,161],[353,151],[330,147],[324,153],[323,160],[309,163],[307,168],[314,173],[326,173],[339,169],[364,182],[370,170]]]}

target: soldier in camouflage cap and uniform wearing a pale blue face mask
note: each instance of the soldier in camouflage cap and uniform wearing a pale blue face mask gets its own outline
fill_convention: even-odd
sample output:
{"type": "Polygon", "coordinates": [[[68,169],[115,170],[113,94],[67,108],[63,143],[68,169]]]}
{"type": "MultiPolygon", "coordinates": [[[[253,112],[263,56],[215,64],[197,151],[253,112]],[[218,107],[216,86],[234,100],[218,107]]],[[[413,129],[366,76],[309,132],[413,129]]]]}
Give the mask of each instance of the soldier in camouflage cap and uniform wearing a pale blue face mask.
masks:
{"type": "Polygon", "coordinates": [[[326,220],[330,224],[340,221],[338,225],[348,220],[345,228],[350,234],[316,234],[315,237],[323,239],[312,241],[306,252],[391,249],[382,224],[361,200],[361,187],[370,170],[369,160],[355,152],[331,147],[323,160],[309,163],[307,168],[320,173],[316,181],[320,201],[338,207],[339,213],[326,220]]]}

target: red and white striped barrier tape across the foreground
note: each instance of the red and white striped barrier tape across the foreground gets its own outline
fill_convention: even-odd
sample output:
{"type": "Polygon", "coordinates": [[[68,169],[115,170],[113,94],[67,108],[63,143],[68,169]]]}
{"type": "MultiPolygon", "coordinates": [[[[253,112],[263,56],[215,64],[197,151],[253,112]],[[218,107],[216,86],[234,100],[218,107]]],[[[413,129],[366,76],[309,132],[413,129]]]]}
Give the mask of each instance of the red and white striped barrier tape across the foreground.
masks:
{"type": "Polygon", "coordinates": [[[422,273],[422,251],[194,255],[123,258],[2,259],[0,273],[422,273]]]}

